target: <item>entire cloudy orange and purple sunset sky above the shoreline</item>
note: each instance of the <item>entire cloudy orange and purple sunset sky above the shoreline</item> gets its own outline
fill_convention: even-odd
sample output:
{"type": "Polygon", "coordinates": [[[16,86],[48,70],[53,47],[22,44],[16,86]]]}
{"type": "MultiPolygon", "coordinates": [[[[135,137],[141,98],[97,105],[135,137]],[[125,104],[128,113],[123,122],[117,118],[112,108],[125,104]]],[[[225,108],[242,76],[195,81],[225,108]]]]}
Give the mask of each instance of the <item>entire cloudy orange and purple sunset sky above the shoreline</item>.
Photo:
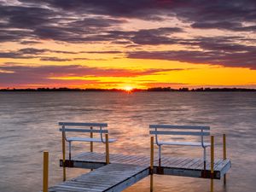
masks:
{"type": "Polygon", "coordinates": [[[0,0],[0,88],[256,88],[255,0],[0,0]]]}

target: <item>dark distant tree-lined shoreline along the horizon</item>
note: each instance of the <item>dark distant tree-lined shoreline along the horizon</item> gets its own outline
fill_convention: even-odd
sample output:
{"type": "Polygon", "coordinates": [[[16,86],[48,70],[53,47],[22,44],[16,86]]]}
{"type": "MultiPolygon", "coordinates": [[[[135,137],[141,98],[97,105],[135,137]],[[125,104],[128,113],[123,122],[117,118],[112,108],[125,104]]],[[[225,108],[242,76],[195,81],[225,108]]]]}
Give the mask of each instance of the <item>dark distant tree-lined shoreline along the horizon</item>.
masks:
{"type": "Polygon", "coordinates": [[[60,91],[79,91],[79,92],[254,92],[256,89],[247,89],[247,88],[197,88],[190,89],[189,88],[180,88],[180,89],[172,89],[171,87],[155,87],[148,88],[147,90],[142,89],[133,89],[130,91],[120,90],[120,89],[78,89],[78,88],[37,88],[37,89],[1,89],[3,91],[9,92],[22,92],[22,91],[31,91],[31,92],[60,92],[60,91]]]}

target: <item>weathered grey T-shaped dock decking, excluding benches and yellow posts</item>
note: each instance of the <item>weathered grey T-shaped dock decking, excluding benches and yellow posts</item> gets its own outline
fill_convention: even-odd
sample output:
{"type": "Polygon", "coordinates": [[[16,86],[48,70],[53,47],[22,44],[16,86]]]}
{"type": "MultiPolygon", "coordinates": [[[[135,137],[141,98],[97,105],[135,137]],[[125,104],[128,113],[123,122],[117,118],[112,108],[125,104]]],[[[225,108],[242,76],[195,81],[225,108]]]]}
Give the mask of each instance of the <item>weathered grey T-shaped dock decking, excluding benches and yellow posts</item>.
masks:
{"type": "MultiPolygon", "coordinates": [[[[150,158],[147,156],[110,154],[110,164],[106,164],[105,157],[103,153],[88,152],[66,160],[66,167],[95,170],[50,187],[49,192],[119,192],[150,175],[150,158]]],[[[207,174],[204,175],[201,159],[173,157],[163,158],[161,163],[162,166],[158,166],[158,160],[154,159],[154,174],[211,178],[210,163],[207,163],[207,174]]],[[[60,160],[60,166],[63,166],[63,160],[60,160]]],[[[230,166],[230,160],[216,160],[214,179],[224,177],[230,166]]]]}

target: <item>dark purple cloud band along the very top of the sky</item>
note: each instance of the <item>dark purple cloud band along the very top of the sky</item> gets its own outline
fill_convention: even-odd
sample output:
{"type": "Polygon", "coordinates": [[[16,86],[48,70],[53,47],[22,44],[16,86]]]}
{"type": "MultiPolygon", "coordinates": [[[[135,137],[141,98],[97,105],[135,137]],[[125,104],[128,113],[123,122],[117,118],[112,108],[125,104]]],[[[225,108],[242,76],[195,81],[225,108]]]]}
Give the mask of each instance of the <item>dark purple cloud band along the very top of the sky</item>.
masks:
{"type": "MultiPolygon", "coordinates": [[[[20,1],[23,2],[23,1],[20,1]]],[[[24,1],[38,4],[36,0],[24,1]]],[[[40,3],[48,4],[50,7],[75,12],[77,14],[110,15],[122,18],[137,18],[143,20],[163,20],[166,15],[175,15],[177,18],[195,23],[201,23],[206,28],[212,28],[211,24],[219,22],[228,25],[216,24],[222,28],[232,30],[234,22],[241,26],[242,22],[255,22],[256,3],[254,0],[230,0],[230,1],[179,1],[179,0],[138,0],[138,1],[58,1],[45,0],[40,3]],[[230,23],[230,24],[229,24],[230,23]]],[[[212,24],[212,25],[213,25],[212,24]]],[[[237,30],[238,28],[236,28],[237,30]]],[[[243,31],[243,27],[240,27],[243,31]]],[[[254,28],[255,30],[255,28],[254,28]]]]}

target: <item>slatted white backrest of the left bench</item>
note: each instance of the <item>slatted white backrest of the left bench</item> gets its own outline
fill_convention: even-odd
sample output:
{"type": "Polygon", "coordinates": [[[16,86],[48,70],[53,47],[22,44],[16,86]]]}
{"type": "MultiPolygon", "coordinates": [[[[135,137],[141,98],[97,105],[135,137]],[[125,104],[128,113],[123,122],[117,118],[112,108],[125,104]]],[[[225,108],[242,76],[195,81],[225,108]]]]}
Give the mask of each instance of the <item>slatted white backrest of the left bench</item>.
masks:
{"type": "Polygon", "coordinates": [[[66,132],[84,132],[84,133],[93,132],[93,133],[99,133],[101,135],[102,142],[104,142],[102,134],[108,133],[107,129],[103,129],[108,127],[108,124],[105,124],[105,123],[59,122],[59,125],[61,125],[60,131],[63,133],[63,136],[65,137],[66,140],[67,140],[66,132]],[[83,128],[78,128],[78,127],[83,127],[83,128]]]}

